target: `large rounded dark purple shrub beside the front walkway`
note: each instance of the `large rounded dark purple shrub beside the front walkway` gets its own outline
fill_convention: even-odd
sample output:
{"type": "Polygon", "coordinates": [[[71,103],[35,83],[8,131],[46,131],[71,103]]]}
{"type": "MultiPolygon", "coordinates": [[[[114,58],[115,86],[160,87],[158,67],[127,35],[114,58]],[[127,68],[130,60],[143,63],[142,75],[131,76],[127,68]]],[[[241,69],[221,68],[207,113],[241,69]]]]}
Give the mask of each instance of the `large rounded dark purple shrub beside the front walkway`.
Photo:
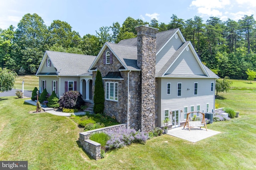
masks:
{"type": "Polygon", "coordinates": [[[63,94],[59,101],[60,107],[68,109],[80,109],[84,104],[82,94],[78,91],[68,91],[63,94]]]}

